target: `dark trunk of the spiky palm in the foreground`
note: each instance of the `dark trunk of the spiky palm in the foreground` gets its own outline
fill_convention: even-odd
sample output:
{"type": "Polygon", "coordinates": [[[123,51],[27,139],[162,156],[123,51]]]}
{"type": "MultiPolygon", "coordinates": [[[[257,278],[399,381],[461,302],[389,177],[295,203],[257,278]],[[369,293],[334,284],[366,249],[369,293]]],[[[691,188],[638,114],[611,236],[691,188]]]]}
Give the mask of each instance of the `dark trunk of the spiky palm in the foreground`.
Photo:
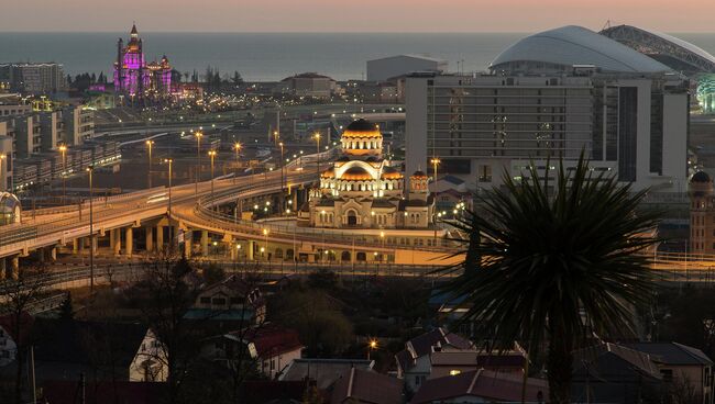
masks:
{"type": "Polygon", "coordinates": [[[554,318],[558,316],[549,316],[549,399],[551,404],[568,404],[571,402],[573,343],[554,318]]]}

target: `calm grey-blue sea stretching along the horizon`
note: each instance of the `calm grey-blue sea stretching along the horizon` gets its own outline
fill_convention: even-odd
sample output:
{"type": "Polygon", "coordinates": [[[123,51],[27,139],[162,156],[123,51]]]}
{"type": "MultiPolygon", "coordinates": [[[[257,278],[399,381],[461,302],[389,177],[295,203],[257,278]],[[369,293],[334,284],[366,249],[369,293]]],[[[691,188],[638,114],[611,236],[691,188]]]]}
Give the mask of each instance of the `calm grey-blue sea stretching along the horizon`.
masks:
{"type": "MultiPolygon", "coordinates": [[[[189,75],[218,68],[248,81],[276,81],[316,71],[336,80],[362,79],[366,60],[420,54],[449,61],[451,71],[483,71],[528,33],[140,33],[147,61],[166,55],[189,75]]],[[[673,34],[715,54],[715,33],[673,34]]],[[[117,40],[129,33],[2,33],[0,63],[57,61],[66,74],[110,75],[117,40]]]]}

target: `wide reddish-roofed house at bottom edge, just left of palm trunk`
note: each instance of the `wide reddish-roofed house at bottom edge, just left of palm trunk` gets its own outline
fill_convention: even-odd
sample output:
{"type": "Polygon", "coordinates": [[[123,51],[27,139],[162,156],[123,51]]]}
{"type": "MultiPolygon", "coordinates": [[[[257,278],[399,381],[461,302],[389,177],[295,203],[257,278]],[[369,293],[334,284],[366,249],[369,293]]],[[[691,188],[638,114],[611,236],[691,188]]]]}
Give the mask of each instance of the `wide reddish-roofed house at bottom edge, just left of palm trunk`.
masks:
{"type": "MultiPolygon", "coordinates": [[[[426,380],[410,404],[462,404],[521,402],[524,378],[490,370],[472,370],[455,375],[426,380]]],[[[525,403],[543,403],[549,396],[546,380],[528,378],[525,403]]]]}

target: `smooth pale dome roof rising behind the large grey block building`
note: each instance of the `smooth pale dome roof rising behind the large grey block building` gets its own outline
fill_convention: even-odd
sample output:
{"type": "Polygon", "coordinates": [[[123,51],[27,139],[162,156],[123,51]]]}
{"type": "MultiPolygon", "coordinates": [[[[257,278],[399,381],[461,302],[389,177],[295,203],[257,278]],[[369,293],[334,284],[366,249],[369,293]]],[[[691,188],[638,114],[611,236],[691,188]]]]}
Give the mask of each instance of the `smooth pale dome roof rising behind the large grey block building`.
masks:
{"type": "Polygon", "coordinates": [[[668,66],[626,45],[576,25],[527,36],[502,52],[491,68],[512,61],[594,65],[604,71],[617,72],[671,71],[668,66]]]}

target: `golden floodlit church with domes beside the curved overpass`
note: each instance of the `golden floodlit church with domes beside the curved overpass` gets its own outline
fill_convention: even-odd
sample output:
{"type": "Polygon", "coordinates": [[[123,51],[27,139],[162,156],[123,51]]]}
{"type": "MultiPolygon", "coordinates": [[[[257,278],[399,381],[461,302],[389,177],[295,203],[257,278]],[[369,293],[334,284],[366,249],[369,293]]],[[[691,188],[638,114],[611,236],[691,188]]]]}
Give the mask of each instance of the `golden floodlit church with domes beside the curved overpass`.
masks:
{"type": "Polygon", "coordinates": [[[433,201],[427,188],[429,178],[416,171],[405,178],[383,158],[380,128],[360,119],[352,122],[341,138],[343,155],[320,175],[299,212],[299,223],[332,228],[428,228],[433,222],[433,201]]]}

